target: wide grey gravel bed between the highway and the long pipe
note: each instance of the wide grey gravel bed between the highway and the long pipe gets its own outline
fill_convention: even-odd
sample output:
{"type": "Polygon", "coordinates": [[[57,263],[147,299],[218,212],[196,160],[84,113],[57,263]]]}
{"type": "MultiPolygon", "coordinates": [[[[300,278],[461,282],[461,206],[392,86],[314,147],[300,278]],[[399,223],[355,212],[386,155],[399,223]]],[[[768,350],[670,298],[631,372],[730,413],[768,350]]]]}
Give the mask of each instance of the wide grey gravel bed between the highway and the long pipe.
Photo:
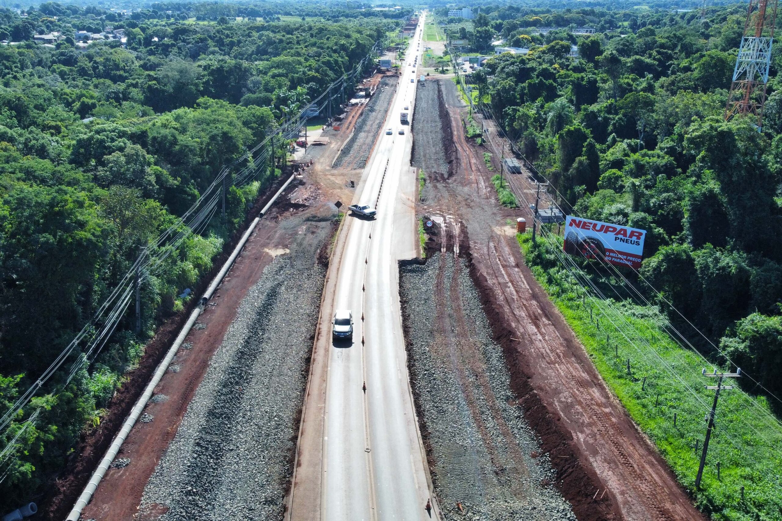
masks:
{"type": "Polygon", "coordinates": [[[239,305],[178,433],[149,480],[159,519],[282,519],[325,267],[328,222],[299,223],[289,253],[239,305]]]}

